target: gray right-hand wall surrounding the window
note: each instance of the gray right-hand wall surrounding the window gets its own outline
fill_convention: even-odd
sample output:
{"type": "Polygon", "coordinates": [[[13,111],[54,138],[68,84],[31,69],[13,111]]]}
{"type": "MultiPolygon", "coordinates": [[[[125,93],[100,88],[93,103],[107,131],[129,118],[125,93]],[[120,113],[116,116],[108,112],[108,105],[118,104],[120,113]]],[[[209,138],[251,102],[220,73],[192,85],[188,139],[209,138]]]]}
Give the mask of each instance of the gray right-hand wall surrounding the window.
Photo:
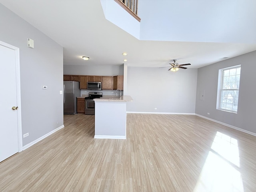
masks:
{"type": "Polygon", "coordinates": [[[196,114],[256,133],[256,51],[224,60],[198,69],[196,114]],[[216,109],[218,70],[241,64],[238,112],[231,113],[216,109]],[[200,92],[205,90],[204,101],[200,92]],[[207,115],[207,112],[210,115],[207,115]]]}

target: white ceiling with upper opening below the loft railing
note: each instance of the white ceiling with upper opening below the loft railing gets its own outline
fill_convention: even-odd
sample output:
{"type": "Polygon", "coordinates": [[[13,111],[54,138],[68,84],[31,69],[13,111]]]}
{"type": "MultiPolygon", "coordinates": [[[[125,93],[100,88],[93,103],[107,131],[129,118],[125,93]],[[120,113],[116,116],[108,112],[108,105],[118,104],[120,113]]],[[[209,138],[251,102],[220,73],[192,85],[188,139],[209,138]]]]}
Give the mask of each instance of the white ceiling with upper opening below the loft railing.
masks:
{"type": "Polygon", "coordinates": [[[106,20],[100,0],[0,3],[63,46],[64,65],[127,58],[128,66],[163,67],[177,59],[199,68],[256,50],[255,0],[138,0],[140,40],[106,20]]]}

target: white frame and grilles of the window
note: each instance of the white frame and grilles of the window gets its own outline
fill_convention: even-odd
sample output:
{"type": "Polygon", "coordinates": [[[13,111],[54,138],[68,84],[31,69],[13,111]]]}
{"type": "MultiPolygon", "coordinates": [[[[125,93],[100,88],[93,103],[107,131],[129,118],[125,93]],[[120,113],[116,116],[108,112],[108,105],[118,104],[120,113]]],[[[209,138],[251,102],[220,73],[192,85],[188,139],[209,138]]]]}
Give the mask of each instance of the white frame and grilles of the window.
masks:
{"type": "MultiPolygon", "coordinates": [[[[238,108],[237,110],[229,110],[226,108],[222,108],[221,106],[221,101],[222,101],[222,91],[237,91],[238,92],[238,96],[237,96],[237,107],[238,107],[238,98],[239,98],[239,87],[238,88],[223,88],[224,85],[224,71],[225,70],[230,70],[230,69],[234,69],[234,68],[241,68],[241,65],[236,65],[236,66],[232,66],[232,67],[227,67],[227,68],[223,68],[219,70],[219,76],[218,76],[218,91],[217,91],[217,104],[216,104],[216,109],[218,110],[222,110],[222,111],[227,111],[227,112],[233,112],[233,113],[237,113],[238,112],[238,108]]],[[[241,71],[241,70],[240,70],[241,71]]],[[[229,76],[230,77],[230,76],[229,76]]],[[[239,86],[240,86],[240,79],[239,79],[239,86]]],[[[232,103],[232,106],[234,106],[234,103],[232,103]]],[[[233,109],[233,107],[232,107],[233,109]]]]}

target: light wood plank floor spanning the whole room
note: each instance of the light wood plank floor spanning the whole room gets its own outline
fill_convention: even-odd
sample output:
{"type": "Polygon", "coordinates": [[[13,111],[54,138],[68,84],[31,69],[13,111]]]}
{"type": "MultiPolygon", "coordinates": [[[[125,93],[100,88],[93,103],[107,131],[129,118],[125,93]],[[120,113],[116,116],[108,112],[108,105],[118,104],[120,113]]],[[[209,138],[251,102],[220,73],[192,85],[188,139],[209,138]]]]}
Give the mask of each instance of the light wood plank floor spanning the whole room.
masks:
{"type": "Polygon", "coordinates": [[[94,139],[90,115],[64,125],[0,163],[1,192],[256,191],[256,137],[198,116],[127,114],[126,140],[94,139]]]}

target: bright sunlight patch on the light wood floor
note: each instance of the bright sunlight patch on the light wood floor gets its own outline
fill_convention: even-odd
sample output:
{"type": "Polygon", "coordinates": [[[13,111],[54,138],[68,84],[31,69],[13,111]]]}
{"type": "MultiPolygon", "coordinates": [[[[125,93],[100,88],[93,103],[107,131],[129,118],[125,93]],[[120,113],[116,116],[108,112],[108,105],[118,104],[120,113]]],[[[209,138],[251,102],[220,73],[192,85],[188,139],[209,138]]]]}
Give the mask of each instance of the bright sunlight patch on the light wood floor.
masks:
{"type": "Polygon", "coordinates": [[[217,132],[194,192],[244,192],[238,142],[217,132]]]}

